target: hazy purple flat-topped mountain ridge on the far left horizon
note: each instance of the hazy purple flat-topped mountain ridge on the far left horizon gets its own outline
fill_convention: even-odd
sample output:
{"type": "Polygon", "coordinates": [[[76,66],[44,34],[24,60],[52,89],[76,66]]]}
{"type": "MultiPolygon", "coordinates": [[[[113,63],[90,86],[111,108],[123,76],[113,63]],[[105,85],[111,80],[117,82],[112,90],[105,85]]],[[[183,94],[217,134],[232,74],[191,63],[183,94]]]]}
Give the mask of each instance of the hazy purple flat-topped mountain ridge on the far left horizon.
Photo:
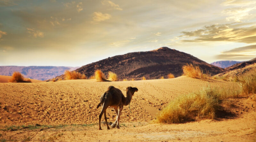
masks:
{"type": "Polygon", "coordinates": [[[79,67],[57,67],[57,66],[0,66],[0,75],[12,76],[14,71],[19,71],[25,78],[47,80],[59,76],[65,70],[73,71],[79,67]]]}

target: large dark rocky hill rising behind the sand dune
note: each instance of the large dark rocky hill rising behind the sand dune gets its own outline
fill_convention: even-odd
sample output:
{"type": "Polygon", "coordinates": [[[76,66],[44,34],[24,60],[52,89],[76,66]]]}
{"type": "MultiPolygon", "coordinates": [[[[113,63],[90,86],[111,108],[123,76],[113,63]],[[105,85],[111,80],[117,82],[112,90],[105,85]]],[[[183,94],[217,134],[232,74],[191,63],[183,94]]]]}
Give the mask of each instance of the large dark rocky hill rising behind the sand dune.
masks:
{"type": "MultiPolygon", "coordinates": [[[[202,69],[206,69],[211,74],[218,74],[224,69],[208,64],[190,54],[180,52],[175,49],[162,47],[146,52],[132,52],[124,55],[108,57],[91,64],[84,65],[76,71],[85,74],[87,77],[93,76],[97,69],[100,69],[105,76],[108,71],[117,74],[119,79],[140,80],[143,76],[147,79],[158,79],[161,76],[167,78],[169,73],[175,77],[181,76],[182,66],[185,64],[196,64],[202,69]]],[[[55,79],[64,78],[64,75],[55,79]]]]}

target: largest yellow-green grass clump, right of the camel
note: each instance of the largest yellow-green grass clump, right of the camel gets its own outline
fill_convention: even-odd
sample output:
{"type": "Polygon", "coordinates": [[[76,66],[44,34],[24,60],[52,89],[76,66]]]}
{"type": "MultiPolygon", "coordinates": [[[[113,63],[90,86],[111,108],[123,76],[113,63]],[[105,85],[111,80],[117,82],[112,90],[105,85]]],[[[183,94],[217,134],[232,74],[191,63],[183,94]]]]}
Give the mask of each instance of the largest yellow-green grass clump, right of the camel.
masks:
{"type": "Polygon", "coordinates": [[[180,95],[157,114],[154,122],[183,123],[195,120],[196,117],[216,118],[223,99],[236,98],[240,94],[239,87],[228,87],[220,89],[208,86],[195,93],[180,95]]]}

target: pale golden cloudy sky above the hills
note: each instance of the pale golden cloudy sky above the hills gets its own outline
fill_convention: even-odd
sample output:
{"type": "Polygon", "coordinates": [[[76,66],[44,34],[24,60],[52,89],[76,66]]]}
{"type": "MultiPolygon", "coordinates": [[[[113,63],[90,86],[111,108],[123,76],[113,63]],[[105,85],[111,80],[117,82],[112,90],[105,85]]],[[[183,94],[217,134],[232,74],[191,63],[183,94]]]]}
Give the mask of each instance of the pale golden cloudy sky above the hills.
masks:
{"type": "Polygon", "coordinates": [[[0,0],[0,65],[83,66],[169,47],[256,57],[255,0],[0,0]]]}

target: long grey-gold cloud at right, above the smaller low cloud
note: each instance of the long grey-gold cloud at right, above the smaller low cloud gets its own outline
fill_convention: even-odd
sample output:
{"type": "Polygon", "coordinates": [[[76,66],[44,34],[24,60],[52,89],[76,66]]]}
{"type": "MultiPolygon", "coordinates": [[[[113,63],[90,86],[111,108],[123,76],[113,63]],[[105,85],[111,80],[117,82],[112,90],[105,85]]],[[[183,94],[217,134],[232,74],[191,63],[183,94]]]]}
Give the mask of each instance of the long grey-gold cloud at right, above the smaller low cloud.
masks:
{"type": "Polygon", "coordinates": [[[183,42],[234,41],[256,43],[256,26],[235,28],[231,24],[214,24],[195,31],[181,33],[183,34],[181,36],[184,37],[195,37],[193,40],[182,40],[183,42]]]}

